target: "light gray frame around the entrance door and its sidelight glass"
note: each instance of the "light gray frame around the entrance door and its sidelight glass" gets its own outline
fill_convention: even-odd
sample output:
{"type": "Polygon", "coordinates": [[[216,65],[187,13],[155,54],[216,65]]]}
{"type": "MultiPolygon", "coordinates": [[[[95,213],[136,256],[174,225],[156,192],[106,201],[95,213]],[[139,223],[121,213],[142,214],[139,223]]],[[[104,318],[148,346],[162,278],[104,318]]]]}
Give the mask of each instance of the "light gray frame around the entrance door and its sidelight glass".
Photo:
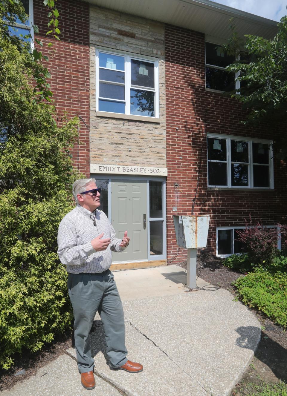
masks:
{"type": "MultiPolygon", "coordinates": [[[[108,183],[108,211],[109,211],[109,221],[111,219],[111,179],[120,179],[120,180],[146,180],[147,181],[147,260],[155,261],[155,260],[165,260],[166,259],[166,178],[165,177],[147,177],[140,175],[113,175],[113,174],[97,174],[91,173],[90,177],[94,177],[95,179],[103,179],[109,180],[108,183]],[[162,181],[163,182],[163,217],[161,217],[159,221],[163,221],[163,254],[162,255],[150,255],[149,250],[149,181],[162,181]]],[[[130,261],[122,261],[121,263],[128,263],[130,261]]],[[[117,262],[118,263],[118,262],[117,262]]],[[[119,262],[120,263],[120,262],[119,262]]]]}

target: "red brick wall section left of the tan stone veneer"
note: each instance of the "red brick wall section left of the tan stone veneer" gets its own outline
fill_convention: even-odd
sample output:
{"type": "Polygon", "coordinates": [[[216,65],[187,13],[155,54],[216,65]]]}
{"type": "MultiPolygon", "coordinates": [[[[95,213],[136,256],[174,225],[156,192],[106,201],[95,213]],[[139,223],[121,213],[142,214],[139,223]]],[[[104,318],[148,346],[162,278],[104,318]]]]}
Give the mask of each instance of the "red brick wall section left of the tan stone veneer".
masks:
{"type": "MultiPolygon", "coordinates": [[[[59,16],[61,42],[55,40],[47,54],[47,65],[51,74],[51,90],[59,119],[65,112],[67,117],[82,116],[90,126],[90,72],[89,72],[89,5],[75,0],[56,3],[59,16]]],[[[51,41],[48,31],[47,11],[43,2],[34,0],[34,23],[39,27],[36,38],[44,44],[51,41]]],[[[47,52],[47,47],[43,52],[47,52]]],[[[73,161],[78,170],[90,175],[90,134],[83,122],[79,129],[80,144],[72,148],[73,161]]]]}

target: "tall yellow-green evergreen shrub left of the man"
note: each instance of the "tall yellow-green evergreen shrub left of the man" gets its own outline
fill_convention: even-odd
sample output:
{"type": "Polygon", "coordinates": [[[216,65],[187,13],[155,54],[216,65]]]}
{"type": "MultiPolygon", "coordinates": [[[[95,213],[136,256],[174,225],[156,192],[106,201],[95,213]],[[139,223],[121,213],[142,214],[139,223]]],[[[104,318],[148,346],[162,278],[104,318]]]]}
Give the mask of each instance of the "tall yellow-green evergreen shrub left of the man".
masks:
{"type": "Polygon", "coordinates": [[[39,350],[72,320],[57,229],[73,208],[69,147],[78,120],[57,126],[54,108],[34,100],[34,70],[42,66],[7,36],[1,16],[0,366],[7,369],[16,352],[39,350]]]}

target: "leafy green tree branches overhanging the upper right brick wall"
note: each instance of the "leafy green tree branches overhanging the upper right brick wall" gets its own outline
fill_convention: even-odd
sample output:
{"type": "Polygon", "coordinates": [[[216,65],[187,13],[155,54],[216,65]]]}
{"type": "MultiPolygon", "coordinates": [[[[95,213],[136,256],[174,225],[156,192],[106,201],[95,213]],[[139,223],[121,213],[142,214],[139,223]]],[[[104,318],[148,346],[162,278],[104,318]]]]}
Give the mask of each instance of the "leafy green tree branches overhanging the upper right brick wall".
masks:
{"type": "MultiPolygon", "coordinates": [[[[268,121],[274,129],[284,127],[282,123],[287,116],[287,16],[281,18],[272,40],[251,34],[239,38],[233,19],[230,29],[232,35],[223,51],[240,56],[240,60],[227,70],[240,73],[240,93],[235,90],[230,95],[248,110],[244,123],[268,121]]],[[[287,156],[286,133],[277,137],[274,144],[287,156]]]]}

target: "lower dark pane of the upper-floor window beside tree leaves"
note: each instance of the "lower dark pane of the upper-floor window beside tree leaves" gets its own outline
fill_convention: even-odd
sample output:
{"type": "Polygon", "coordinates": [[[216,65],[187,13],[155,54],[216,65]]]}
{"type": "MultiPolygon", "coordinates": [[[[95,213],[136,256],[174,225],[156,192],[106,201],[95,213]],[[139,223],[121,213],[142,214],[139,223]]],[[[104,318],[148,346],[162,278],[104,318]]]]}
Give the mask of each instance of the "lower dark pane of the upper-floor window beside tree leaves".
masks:
{"type": "Polygon", "coordinates": [[[206,88],[218,91],[233,91],[235,89],[235,75],[225,70],[215,69],[214,67],[205,68],[206,88]]]}

